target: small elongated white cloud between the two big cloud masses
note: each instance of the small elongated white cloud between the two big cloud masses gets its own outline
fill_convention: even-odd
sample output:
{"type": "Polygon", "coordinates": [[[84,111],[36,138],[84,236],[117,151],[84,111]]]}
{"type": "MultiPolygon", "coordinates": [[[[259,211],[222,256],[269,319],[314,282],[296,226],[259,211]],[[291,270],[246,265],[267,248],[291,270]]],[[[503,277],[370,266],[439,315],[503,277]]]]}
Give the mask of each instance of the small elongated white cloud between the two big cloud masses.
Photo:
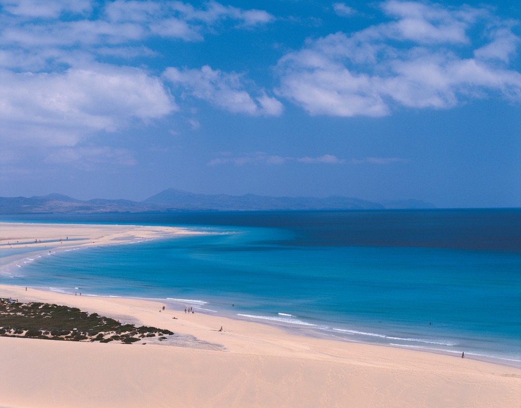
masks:
{"type": "Polygon", "coordinates": [[[201,69],[170,67],[165,70],[163,77],[185,95],[202,99],[232,113],[279,116],[283,110],[282,104],[264,91],[258,92],[258,96],[252,96],[246,90],[249,83],[238,73],[214,70],[205,65],[201,69]]]}

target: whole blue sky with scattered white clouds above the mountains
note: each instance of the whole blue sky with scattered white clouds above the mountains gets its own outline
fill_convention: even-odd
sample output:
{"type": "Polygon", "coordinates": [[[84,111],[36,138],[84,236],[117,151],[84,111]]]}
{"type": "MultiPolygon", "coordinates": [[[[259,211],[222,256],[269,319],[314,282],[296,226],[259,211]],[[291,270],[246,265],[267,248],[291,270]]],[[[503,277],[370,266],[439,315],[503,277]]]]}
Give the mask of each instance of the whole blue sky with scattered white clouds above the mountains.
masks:
{"type": "Polygon", "coordinates": [[[521,206],[521,3],[0,0],[0,196],[521,206]]]}

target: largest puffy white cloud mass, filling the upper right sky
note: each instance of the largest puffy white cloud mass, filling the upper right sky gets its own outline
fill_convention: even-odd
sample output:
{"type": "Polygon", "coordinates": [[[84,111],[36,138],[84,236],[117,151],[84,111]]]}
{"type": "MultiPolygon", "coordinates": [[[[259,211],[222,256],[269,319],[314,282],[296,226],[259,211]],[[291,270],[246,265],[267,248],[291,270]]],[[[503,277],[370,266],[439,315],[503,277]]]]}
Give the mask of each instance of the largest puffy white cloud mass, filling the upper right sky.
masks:
{"type": "Polygon", "coordinates": [[[508,66],[519,38],[488,10],[395,0],[382,10],[392,21],[308,40],[283,56],[278,95],[312,115],[345,117],[449,108],[491,93],[521,100],[521,74],[508,66]],[[475,47],[467,31],[485,19],[491,42],[475,47]]]}

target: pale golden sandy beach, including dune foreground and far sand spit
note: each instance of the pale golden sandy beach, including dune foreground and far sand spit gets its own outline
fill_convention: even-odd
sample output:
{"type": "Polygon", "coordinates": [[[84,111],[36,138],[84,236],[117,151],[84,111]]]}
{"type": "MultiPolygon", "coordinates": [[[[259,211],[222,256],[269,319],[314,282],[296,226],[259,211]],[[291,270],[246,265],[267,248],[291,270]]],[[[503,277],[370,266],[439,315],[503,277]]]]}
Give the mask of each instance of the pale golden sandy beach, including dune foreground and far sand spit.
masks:
{"type": "MultiPolygon", "coordinates": [[[[0,231],[0,244],[41,239],[42,244],[34,245],[44,246],[52,239],[46,245],[58,248],[192,233],[164,227],[11,223],[1,223],[0,231]]],[[[8,245],[1,248],[9,251],[8,245]]],[[[15,286],[0,286],[0,297],[76,306],[166,328],[182,339],[177,344],[127,345],[0,337],[0,406],[521,405],[521,370],[472,358],[297,336],[258,323],[185,314],[182,306],[159,312],[164,304],[154,301],[15,286]]]]}

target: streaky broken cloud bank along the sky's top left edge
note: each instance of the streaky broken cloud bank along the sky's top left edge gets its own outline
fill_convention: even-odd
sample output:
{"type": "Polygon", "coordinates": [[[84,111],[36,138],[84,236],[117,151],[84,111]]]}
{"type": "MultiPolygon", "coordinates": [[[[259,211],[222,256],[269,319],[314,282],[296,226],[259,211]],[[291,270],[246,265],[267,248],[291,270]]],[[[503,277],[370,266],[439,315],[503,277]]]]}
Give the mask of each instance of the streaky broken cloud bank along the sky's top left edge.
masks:
{"type": "Polygon", "coordinates": [[[159,36],[201,41],[226,27],[253,28],[275,20],[264,10],[217,2],[195,8],[178,1],[0,0],[3,44],[22,48],[120,45],[159,36]],[[66,17],[60,19],[60,17],[66,17]]]}

